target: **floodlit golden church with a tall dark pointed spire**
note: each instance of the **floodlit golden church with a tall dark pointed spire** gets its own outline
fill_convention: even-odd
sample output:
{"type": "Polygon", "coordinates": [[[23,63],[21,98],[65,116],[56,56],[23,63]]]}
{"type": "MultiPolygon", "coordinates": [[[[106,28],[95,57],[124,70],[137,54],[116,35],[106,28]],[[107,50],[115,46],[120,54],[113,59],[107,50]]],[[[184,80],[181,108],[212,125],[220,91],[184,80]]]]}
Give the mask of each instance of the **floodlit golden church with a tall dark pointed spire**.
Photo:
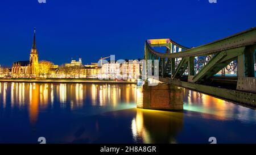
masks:
{"type": "Polygon", "coordinates": [[[30,60],[14,62],[11,68],[13,77],[36,77],[38,75],[38,51],[36,50],[35,35],[34,28],[34,40],[30,51],[30,60]]]}

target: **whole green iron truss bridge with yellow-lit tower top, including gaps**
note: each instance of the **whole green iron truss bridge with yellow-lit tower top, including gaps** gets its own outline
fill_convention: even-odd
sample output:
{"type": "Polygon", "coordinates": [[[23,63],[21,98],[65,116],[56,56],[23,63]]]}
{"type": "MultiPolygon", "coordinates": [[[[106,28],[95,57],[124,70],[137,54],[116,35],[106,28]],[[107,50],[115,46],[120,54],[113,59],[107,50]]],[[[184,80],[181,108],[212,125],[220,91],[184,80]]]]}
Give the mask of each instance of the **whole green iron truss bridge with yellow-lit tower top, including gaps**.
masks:
{"type": "Polygon", "coordinates": [[[255,49],[256,27],[192,48],[171,39],[150,39],[144,59],[159,60],[162,82],[255,108],[255,49]]]}

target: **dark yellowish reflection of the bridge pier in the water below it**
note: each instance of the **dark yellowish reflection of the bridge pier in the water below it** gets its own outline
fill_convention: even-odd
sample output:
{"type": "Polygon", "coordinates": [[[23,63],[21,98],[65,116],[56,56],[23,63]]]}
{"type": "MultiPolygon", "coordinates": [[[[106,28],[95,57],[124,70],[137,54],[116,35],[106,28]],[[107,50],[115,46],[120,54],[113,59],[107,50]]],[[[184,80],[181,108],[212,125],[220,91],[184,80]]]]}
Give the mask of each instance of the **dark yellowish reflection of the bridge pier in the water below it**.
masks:
{"type": "Polygon", "coordinates": [[[135,143],[176,143],[183,127],[183,112],[143,110],[137,108],[131,121],[135,143]]]}

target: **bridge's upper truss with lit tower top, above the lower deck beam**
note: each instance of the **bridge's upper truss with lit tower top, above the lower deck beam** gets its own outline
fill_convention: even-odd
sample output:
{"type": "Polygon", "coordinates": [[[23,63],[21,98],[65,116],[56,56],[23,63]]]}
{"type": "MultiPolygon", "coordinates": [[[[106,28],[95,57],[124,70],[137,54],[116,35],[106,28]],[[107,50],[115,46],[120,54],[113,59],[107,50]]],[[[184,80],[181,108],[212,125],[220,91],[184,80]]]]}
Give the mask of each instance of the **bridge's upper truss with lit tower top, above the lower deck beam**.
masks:
{"type": "Polygon", "coordinates": [[[254,77],[254,52],[256,28],[237,33],[212,43],[195,48],[186,48],[170,39],[147,40],[145,60],[159,60],[159,75],[179,79],[188,74],[188,82],[205,81],[226,69],[237,70],[238,77],[254,77]],[[166,47],[160,53],[152,47],[166,47]]]}

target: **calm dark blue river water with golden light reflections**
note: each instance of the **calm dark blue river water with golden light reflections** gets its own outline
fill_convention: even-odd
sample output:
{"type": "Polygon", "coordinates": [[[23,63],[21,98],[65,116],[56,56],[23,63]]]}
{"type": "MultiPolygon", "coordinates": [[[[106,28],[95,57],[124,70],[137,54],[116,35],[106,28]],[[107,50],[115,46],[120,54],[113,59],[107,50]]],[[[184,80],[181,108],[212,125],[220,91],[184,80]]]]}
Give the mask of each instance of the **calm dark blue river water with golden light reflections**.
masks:
{"type": "Polygon", "coordinates": [[[184,111],[142,110],[132,84],[0,82],[0,143],[256,143],[256,110],[183,89],[184,111]]]}

